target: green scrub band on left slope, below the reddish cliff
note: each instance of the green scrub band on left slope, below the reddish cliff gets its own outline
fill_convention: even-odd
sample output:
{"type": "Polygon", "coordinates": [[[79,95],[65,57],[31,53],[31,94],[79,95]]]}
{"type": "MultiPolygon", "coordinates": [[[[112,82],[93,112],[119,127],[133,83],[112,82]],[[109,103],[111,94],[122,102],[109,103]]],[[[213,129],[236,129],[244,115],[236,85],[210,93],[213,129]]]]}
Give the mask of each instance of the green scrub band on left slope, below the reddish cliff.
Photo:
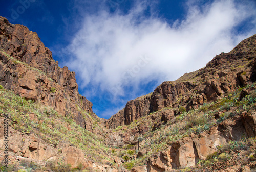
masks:
{"type": "Polygon", "coordinates": [[[86,150],[84,153],[94,159],[101,159],[105,157],[102,155],[110,153],[110,149],[104,145],[102,139],[77,125],[71,118],[72,116],[63,117],[51,107],[31,100],[23,99],[23,103],[24,106],[21,98],[12,91],[0,90],[0,113],[12,114],[10,125],[15,130],[24,134],[33,132],[52,145],[57,145],[60,140],[69,142],[83,151],[86,150]],[[38,120],[43,122],[32,121],[29,114],[34,114],[38,120]],[[61,122],[54,122],[56,120],[61,122]],[[66,122],[70,125],[69,130],[65,127],[66,122]],[[49,124],[53,127],[49,128],[49,124]],[[99,153],[95,154],[95,151],[99,153]]]}

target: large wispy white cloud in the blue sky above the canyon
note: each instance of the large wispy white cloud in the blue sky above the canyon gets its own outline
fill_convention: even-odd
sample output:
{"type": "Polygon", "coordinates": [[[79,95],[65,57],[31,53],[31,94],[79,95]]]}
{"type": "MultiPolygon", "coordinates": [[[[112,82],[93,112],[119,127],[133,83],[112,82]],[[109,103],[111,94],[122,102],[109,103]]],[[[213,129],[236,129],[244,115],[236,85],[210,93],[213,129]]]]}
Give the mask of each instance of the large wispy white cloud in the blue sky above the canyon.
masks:
{"type": "Polygon", "coordinates": [[[72,55],[66,65],[79,73],[81,86],[95,85],[115,96],[125,95],[125,86],[136,92],[142,81],[175,80],[256,33],[255,20],[250,30],[234,32],[241,22],[255,18],[250,4],[223,0],[200,6],[187,1],[185,19],[171,24],[143,16],[145,9],[145,3],[138,3],[125,15],[103,10],[84,15],[65,50],[72,55]]]}

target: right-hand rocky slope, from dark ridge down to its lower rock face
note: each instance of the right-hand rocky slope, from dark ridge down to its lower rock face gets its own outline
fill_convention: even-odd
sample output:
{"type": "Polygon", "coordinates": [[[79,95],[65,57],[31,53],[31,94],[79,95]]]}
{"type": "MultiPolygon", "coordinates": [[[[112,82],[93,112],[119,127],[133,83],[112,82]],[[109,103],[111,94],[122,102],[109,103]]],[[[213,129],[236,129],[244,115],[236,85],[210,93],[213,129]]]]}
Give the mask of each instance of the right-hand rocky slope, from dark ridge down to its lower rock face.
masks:
{"type": "Polygon", "coordinates": [[[137,137],[142,162],[134,163],[146,163],[147,171],[196,166],[220,145],[255,137],[255,44],[256,35],[206,67],[163,82],[153,93],[129,101],[106,127],[137,137]]]}

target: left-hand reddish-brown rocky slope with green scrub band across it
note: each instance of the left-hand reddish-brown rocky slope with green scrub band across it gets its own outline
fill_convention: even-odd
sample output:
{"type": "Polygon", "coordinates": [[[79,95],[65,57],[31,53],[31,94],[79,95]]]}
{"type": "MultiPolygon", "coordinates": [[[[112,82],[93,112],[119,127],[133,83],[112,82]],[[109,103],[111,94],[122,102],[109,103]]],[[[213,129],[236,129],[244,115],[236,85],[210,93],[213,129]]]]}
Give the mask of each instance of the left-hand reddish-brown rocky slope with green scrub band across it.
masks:
{"type": "Polygon", "coordinates": [[[108,159],[110,150],[103,141],[108,131],[102,129],[103,121],[93,113],[92,103],[78,93],[75,72],[58,67],[35,32],[3,17],[0,91],[0,144],[4,148],[6,113],[10,117],[11,162],[46,165],[54,161],[72,168],[81,164],[82,168],[94,165],[97,169],[100,164],[93,162],[99,157],[108,159]]]}

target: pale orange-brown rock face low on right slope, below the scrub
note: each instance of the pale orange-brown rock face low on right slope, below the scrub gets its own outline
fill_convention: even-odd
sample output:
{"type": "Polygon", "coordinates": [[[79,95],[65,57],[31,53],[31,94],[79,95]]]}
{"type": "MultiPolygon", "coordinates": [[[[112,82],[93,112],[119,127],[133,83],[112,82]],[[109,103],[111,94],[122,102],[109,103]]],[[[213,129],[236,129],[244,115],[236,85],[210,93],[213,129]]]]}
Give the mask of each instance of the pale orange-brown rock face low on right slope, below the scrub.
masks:
{"type": "MultiPolygon", "coordinates": [[[[224,145],[228,140],[238,140],[245,133],[244,126],[240,118],[234,117],[232,120],[224,121],[219,126],[212,127],[209,131],[199,135],[191,134],[170,146],[166,152],[160,152],[151,157],[147,162],[147,169],[152,171],[166,171],[170,168],[196,166],[199,159],[206,157],[217,151],[218,145],[224,145]]],[[[237,163],[237,162],[236,162],[237,163]]],[[[240,166],[227,165],[227,170],[237,170],[240,166]]]]}

